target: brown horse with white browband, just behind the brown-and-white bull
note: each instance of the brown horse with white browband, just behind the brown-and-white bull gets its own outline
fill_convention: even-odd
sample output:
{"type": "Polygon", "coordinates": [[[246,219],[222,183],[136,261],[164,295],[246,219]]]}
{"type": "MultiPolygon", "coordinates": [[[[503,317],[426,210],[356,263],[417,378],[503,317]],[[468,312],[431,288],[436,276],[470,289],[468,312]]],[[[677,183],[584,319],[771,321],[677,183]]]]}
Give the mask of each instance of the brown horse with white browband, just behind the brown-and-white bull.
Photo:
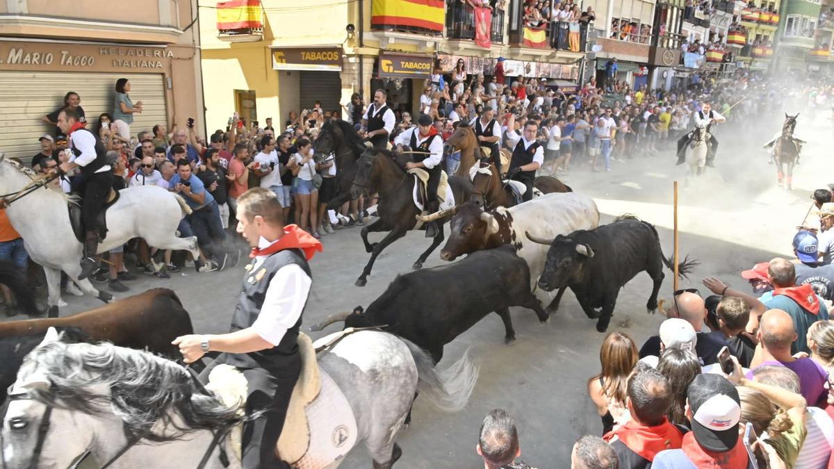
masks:
{"type": "MultiPolygon", "coordinates": [[[[501,180],[494,163],[481,160],[478,162],[477,168],[476,170],[470,169],[472,175],[470,178],[472,180],[472,197],[470,200],[472,202],[475,202],[481,208],[486,205],[486,210],[515,205],[512,188],[501,180]]],[[[533,187],[539,189],[542,194],[573,192],[570,187],[552,176],[539,176],[535,179],[533,187]]]]}

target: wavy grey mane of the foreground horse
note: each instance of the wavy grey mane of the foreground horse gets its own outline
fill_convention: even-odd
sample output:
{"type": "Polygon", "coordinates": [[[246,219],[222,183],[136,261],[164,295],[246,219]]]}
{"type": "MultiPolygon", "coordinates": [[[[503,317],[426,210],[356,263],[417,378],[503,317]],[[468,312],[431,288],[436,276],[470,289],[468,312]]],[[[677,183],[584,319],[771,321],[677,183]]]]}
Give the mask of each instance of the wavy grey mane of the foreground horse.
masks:
{"type": "Polygon", "coordinates": [[[101,405],[109,403],[122,418],[128,438],[173,441],[189,431],[217,430],[242,418],[237,408],[195,392],[193,378],[182,366],[106,342],[56,340],[33,350],[21,368],[45,372],[51,386],[33,391],[33,397],[44,404],[100,413],[101,405]],[[110,395],[98,394],[91,389],[93,385],[108,387],[110,395]],[[175,431],[154,433],[160,422],[175,431]]]}

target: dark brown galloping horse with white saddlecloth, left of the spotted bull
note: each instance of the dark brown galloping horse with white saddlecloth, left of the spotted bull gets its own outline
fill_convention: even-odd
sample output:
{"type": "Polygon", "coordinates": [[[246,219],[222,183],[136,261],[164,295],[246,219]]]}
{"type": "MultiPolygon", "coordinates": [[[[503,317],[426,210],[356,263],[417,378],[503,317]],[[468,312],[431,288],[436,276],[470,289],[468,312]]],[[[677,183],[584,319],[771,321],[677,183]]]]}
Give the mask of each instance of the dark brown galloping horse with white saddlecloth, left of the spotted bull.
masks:
{"type": "MultiPolygon", "coordinates": [[[[425,226],[416,228],[420,210],[414,205],[414,177],[404,169],[409,161],[411,161],[410,154],[374,149],[366,150],[359,158],[359,168],[350,191],[354,199],[362,194],[379,194],[377,204],[379,219],[362,228],[362,241],[365,250],[371,255],[368,265],[365,265],[362,275],[359,275],[359,279],[356,280],[356,286],[364,286],[368,283],[368,275],[374,267],[374,260],[388,245],[402,238],[410,229],[425,229],[425,226]],[[389,233],[379,243],[370,244],[368,234],[379,231],[389,233]]],[[[463,204],[469,200],[472,184],[467,179],[450,176],[449,185],[455,194],[455,204],[463,204]]],[[[440,224],[439,233],[432,240],[429,249],[425,250],[414,262],[414,269],[420,269],[431,252],[443,242],[443,224],[450,217],[451,214],[446,214],[437,219],[437,223],[440,224]]]]}

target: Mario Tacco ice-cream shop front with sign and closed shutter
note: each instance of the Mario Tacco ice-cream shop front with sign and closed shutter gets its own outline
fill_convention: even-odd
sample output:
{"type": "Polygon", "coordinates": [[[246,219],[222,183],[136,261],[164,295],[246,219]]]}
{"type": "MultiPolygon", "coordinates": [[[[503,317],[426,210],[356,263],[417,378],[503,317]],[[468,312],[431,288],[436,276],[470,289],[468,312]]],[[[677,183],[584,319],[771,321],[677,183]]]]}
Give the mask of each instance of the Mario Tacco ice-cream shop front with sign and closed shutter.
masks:
{"type": "MultiPolygon", "coordinates": [[[[38,138],[58,130],[42,118],[62,108],[69,91],[81,98],[88,128],[98,129],[98,116],[113,113],[118,78],[128,78],[130,97],[144,105],[143,113],[134,116],[134,135],[155,124],[170,125],[168,110],[175,112],[173,57],[165,46],[0,38],[0,149],[24,161],[38,153],[38,138]]],[[[183,88],[176,90],[178,97],[183,102],[188,100],[190,106],[197,93],[195,84],[182,84],[183,88]]]]}

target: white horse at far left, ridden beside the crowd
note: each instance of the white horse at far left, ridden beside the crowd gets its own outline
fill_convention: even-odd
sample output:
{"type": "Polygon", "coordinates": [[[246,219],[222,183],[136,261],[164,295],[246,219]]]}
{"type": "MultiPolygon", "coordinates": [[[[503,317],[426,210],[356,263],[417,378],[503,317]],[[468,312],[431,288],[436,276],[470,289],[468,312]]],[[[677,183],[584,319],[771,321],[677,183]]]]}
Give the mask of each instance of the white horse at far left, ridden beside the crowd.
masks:
{"type": "MultiPolygon", "coordinates": [[[[0,194],[8,197],[31,188],[38,175],[17,162],[5,159],[0,152],[0,194]]],[[[14,200],[6,208],[9,221],[23,238],[32,260],[43,265],[48,286],[49,315],[58,316],[61,302],[61,270],[69,275],[88,295],[109,301],[113,295],[98,291],[81,274],[83,245],[73,234],[68,204],[73,203],[60,188],[44,186],[14,200]]],[[[143,238],[156,248],[188,250],[197,259],[197,238],[175,235],[179,220],[191,209],[176,194],[156,186],[138,186],[119,191],[119,199],[107,211],[108,233],[98,252],[103,253],[143,238]]]]}

